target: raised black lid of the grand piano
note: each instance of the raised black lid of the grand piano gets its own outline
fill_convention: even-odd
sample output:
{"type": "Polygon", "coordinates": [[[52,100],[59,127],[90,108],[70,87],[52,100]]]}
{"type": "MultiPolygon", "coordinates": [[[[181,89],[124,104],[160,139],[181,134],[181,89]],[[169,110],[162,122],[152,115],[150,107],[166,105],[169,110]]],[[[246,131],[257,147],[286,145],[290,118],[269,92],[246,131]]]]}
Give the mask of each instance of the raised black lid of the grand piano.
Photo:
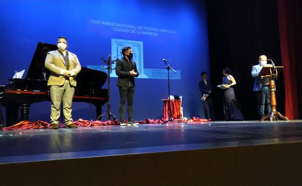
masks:
{"type": "MultiPolygon", "coordinates": [[[[49,72],[45,69],[45,58],[49,51],[57,49],[58,47],[55,44],[39,42],[32,57],[26,79],[43,80],[43,72],[46,73],[46,78],[48,79],[49,72]]],[[[101,88],[107,81],[107,74],[105,72],[82,67],[81,72],[76,76],[76,81],[77,89],[86,89],[90,88],[90,86],[92,86],[92,88],[101,88]]]]}

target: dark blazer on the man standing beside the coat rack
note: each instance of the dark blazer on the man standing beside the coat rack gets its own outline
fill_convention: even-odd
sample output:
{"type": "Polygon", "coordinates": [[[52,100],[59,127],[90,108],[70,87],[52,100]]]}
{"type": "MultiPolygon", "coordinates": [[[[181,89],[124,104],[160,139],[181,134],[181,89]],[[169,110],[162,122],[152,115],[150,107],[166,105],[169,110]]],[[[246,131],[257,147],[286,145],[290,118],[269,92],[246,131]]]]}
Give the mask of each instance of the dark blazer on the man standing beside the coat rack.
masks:
{"type": "Polygon", "coordinates": [[[117,86],[135,86],[134,77],[138,77],[139,72],[137,72],[136,62],[131,61],[131,63],[132,65],[129,65],[129,62],[125,57],[117,60],[115,67],[115,73],[118,75],[117,86]],[[136,76],[130,75],[130,71],[132,70],[137,73],[136,76]]]}

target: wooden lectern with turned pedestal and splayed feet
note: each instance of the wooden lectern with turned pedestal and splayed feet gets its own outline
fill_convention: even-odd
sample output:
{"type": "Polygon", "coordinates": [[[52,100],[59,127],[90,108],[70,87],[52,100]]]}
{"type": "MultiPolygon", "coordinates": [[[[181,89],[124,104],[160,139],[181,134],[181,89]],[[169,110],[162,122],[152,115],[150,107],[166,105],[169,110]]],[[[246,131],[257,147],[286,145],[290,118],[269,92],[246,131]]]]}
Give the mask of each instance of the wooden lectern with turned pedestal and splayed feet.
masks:
{"type": "Polygon", "coordinates": [[[277,101],[276,101],[276,93],[275,93],[275,81],[278,78],[278,72],[281,71],[283,67],[277,67],[277,66],[264,66],[262,70],[259,72],[258,77],[262,78],[270,78],[270,92],[271,92],[271,107],[272,111],[271,113],[268,113],[266,116],[261,118],[261,121],[264,121],[268,118],[272,121],[272,119],[275,117],[277,120],[279,120],[279,117],[282,119],[285,119],[288,121],[288,118],[281,115],[279,112],[276,111],[277,101]]]}

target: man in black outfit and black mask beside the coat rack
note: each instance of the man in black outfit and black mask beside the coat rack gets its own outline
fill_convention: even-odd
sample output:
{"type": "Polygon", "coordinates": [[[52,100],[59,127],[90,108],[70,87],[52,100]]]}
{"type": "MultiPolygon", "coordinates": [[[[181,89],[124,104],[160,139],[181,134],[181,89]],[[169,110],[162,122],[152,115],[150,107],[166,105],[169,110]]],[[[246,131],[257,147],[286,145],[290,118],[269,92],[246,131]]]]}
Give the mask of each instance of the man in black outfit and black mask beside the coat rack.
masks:
{"type": "Polygon", "coordinates": [[[127,100],[127,112],[128,112],[128,123],[127,125],[138,125],[133,120],[133,96],[135,81],[134,78],[138,77],[139,73],[136,69],[136,62],[132,61],[133,53],[130,46],[122,48],[121,53],[123,57],[118,59],[116,63],[115,73],[118,75],[117,86],[120,90],[120,120],[121,126],[125,126],[124,123],[124,109],[125,102],[127,100]]]}

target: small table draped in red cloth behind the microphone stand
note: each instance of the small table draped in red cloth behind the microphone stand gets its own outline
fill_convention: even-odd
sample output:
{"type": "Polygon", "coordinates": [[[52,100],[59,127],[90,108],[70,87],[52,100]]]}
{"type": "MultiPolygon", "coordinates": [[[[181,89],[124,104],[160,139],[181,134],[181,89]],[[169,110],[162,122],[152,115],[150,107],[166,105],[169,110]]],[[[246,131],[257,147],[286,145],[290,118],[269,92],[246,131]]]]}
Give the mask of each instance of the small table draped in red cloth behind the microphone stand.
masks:
{"type": "MultiPolygon", "coordinates": [[[[163,117],[162,120],[169,119],[169,106],[168,106],[168,99],[162,99],[164,101],[164,110],[163,110],[163,117]]],[[[181,100],[174,100],[170,99],[171,105],[171,117],[173,119],[181,119],[181,100]]]]}

